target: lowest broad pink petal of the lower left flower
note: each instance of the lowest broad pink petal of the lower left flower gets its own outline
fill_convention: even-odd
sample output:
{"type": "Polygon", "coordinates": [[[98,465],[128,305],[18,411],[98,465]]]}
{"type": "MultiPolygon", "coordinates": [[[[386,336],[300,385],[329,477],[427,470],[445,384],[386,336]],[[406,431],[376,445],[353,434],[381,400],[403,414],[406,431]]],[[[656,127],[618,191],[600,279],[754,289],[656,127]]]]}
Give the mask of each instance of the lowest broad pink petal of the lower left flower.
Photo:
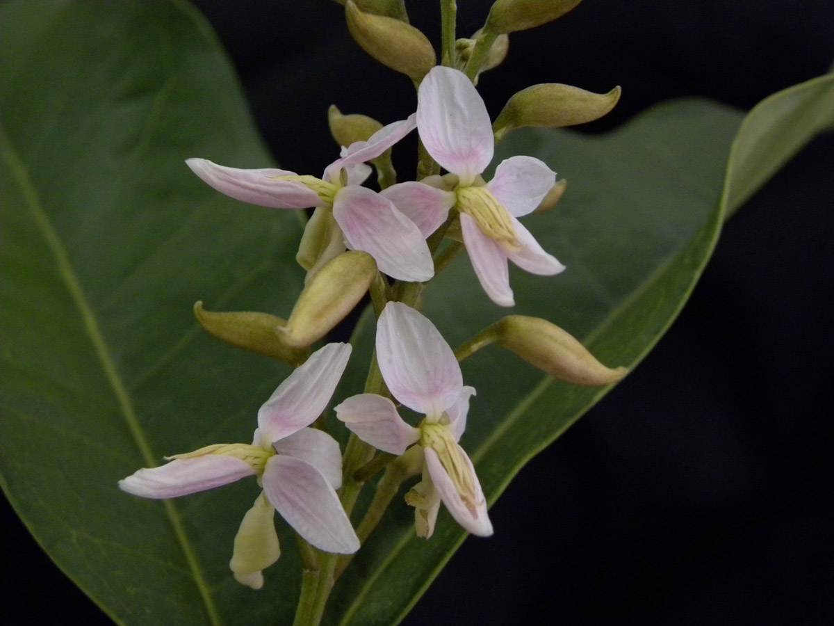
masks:
{"type": "Polygon", "coordinates": [[[324,474],[296,457],[277,454],[264,467],[264,493],[299,535],[324,552],[352,554],[359,538],[324,474]]]}

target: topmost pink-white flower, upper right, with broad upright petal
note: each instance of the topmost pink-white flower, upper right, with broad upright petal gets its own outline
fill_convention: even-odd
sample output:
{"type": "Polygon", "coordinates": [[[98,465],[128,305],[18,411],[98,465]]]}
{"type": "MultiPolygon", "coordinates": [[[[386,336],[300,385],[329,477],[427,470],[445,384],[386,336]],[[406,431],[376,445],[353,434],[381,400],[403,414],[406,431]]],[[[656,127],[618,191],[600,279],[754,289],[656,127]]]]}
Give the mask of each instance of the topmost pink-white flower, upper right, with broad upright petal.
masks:
{"type": "Polygon", "coordinates": [[[431,197],[418,202],[394,185],[385,195],[415,223],[434,228],[454,206],[475,274],[496,304],[515,304],[508,259],[538,275],[565,269],[517,220],[535,210],[555,184],[555,173],[539,159],[515,156],[485,183],[480,174],[492,160],[495,140],[484,101],[464,73],[439,66],[426,74],[417,96],[417,129],[432,158],[457,177],[454,193],[424,191],[431,197]]]}

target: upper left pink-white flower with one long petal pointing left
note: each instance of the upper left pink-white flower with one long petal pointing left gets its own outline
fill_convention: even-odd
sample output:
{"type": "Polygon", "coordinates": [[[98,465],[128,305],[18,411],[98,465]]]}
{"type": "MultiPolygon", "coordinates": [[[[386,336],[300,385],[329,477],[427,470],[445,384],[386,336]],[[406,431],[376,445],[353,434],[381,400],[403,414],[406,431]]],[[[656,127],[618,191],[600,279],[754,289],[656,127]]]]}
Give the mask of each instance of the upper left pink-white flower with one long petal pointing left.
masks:
{"type": "Polygon", "coordinates": [[[420,229],[383,195],[360,185],[375,159],[409,134],[414,114],[388,124],[343,148],[339,159],[324,169],[322,178],[299,176],[284,169],[236,169],[207,159],[187,159],[194,174],[234,199],[273,209],[316,207],[299,254],[304,269],[315,273],[344,252],[345,245],[374,257],[379,270],[399,280],[429,280],[435,269],[420,229]]]}

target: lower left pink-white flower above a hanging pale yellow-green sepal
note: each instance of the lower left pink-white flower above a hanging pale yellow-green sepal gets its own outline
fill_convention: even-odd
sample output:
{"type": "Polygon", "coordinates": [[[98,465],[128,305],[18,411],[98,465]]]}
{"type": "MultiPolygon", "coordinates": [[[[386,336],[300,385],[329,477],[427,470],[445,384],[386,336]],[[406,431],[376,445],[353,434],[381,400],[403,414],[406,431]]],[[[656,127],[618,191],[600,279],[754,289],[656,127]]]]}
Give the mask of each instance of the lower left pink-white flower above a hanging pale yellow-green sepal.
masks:
{"type": "Polygon", "coordinates": [[[229,563],[234,578],[255,589],[264,584],[261,570],[280,554],[275,510],[316,548],[356,552],[359,539],[335,491],[342,482],[339,444],[308,428],[327,406],[349,356],[346,344],[315,351],[260,407],[252,445],[220,443],[167,457],[165,465],[140,469],[118,486],[135,496],[167,498],[257,476],[264,491],[240,524],[229,563]]]}

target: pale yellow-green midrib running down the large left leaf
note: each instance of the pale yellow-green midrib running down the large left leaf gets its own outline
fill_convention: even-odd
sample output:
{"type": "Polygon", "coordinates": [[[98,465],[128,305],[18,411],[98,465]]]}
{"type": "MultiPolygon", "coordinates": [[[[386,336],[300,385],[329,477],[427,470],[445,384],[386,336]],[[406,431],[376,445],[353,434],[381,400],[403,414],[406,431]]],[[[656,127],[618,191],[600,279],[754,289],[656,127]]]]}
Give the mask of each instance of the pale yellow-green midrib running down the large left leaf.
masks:
{"type": "MultiPolygon", "coordinates": [[[[66,285],[69,295],[78,309],[78,315],[81,316],[84,329],[87,331],[88,338],[93,346],[93,351],[98,356],[99,365],[102,367],[103,374],[113,391],[124,421],[128,426],[128,431],[138,447],[144,464],[148,467],[153,467],[156,463],[156,456],[153,454],[148,443],[148,438],[145,436],[142,426],[139,423],[138,415],[133,408],[133,401],[131,401],[127,387],[123,383],[121,376],[119,376],[113,358],[110,356],[107,342],[104,340],[103,332],[98,325],[98,319],[87,297],[84,295],[81,282],[73,271],[73,266],[69,261],[69,256],[58,233],[49,220],[46,211],[43,210],[43,204],[41,203],[38,190],[35,189],[32,179],[29,176],[28,168],[23,163],[23,159],[19,157],[17,149],[15,149],[12,140],[8,137],[6,129],[2,124],[0,124],[0,148],[2,148],[3,161],[8,165],[8,168],[13,174],[13,179],[23,192],[23,198],[25,199],[27,208],[35,223],[38,225],[43,239],[46,240],[49,250],[53,254],[55,265],[58,268],[58,275],[61,276],[61,280],[66,285]]],[[[188,538],[188,534],[185,532],[183,519],[180,517],[172,501],[163,500],[163,506],[168,515],[168,521],[173,528],[174,536],[177,538],[180,548],[183,550],[183,556],[192,573],[194,584],[198,589],[200,598],[203,600],[209,623],[213,626],[221,626],[222,621],[217,608],[214,606],[214,599],[212,598],[208,582],[203,574],[203,569],[198,562],[197,553],[188,538]]]]}

